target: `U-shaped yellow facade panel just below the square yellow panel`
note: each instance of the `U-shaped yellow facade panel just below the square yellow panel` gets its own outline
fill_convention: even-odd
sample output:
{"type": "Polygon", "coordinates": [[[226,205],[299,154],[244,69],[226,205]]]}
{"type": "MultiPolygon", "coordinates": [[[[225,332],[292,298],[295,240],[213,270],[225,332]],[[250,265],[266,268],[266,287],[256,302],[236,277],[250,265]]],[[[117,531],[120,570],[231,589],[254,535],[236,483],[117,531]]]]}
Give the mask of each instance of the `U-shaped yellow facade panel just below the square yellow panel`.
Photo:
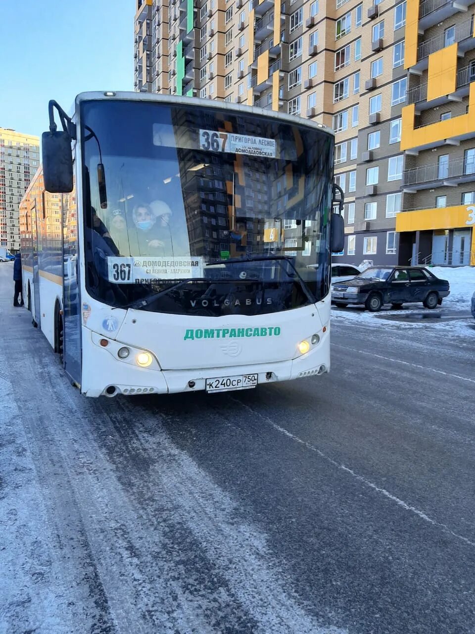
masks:
{"type": "Polygon", "coordinates": [[[414,129],[414,104],[402,109],[401,150],[410,150],[434,141],[443,141],[475,131],[475,84],[470,84],[469,111],[466,115],[438,121],[414,129]]]}

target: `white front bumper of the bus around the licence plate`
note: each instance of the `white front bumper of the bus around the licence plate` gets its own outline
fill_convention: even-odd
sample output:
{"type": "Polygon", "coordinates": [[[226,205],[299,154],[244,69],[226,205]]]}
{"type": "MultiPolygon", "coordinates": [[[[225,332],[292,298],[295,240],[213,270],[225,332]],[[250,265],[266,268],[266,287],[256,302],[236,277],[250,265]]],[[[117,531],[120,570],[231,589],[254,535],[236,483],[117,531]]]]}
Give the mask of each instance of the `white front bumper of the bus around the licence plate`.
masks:
{"type": "MultiPolygon", "coordinates": [[[[92,339],[100,337],[91,333],[92,339]]],[[[86,396],[137,396],[141,394],[176,394],[206,389],[206,379],[258,375],[257,384],[293,380],[329,372],[329,331],[319,344],[306,354],[288,361],[251,365],[220,366],[190,370],[161,370],[158,363],[139,367],[117,358],[115,347],[123,344],[110,342],[100,347],[97,343],[83,347],[81,392],[86,396]]]]}

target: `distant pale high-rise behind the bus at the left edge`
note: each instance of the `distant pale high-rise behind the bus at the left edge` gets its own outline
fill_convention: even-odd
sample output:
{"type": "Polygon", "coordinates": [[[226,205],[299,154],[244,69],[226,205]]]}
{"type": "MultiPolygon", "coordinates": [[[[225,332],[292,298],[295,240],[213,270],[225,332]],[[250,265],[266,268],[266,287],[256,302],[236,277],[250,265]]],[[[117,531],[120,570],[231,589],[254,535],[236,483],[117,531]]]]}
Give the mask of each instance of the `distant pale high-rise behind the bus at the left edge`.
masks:
{"type": "Polygon", "coordinates": [[[39,138],[0,127],[0,247],[20,249],[20,201],[39,165],[39,138]]]}

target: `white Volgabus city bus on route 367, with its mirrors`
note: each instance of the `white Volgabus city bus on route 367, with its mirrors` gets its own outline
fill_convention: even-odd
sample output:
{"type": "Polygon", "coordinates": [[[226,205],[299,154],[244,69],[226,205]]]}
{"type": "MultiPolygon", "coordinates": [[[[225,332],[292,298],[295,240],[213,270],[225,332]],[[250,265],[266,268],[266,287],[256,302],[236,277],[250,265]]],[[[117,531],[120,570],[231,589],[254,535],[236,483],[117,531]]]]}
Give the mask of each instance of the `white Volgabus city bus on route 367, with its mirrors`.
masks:
{"type": "Polygon", "coordinates": [[[20,214],[25,297],[72,384],[220,392],[328,372],[332,131],[158,94],[74,108],[49,103],[20,214]]]}

